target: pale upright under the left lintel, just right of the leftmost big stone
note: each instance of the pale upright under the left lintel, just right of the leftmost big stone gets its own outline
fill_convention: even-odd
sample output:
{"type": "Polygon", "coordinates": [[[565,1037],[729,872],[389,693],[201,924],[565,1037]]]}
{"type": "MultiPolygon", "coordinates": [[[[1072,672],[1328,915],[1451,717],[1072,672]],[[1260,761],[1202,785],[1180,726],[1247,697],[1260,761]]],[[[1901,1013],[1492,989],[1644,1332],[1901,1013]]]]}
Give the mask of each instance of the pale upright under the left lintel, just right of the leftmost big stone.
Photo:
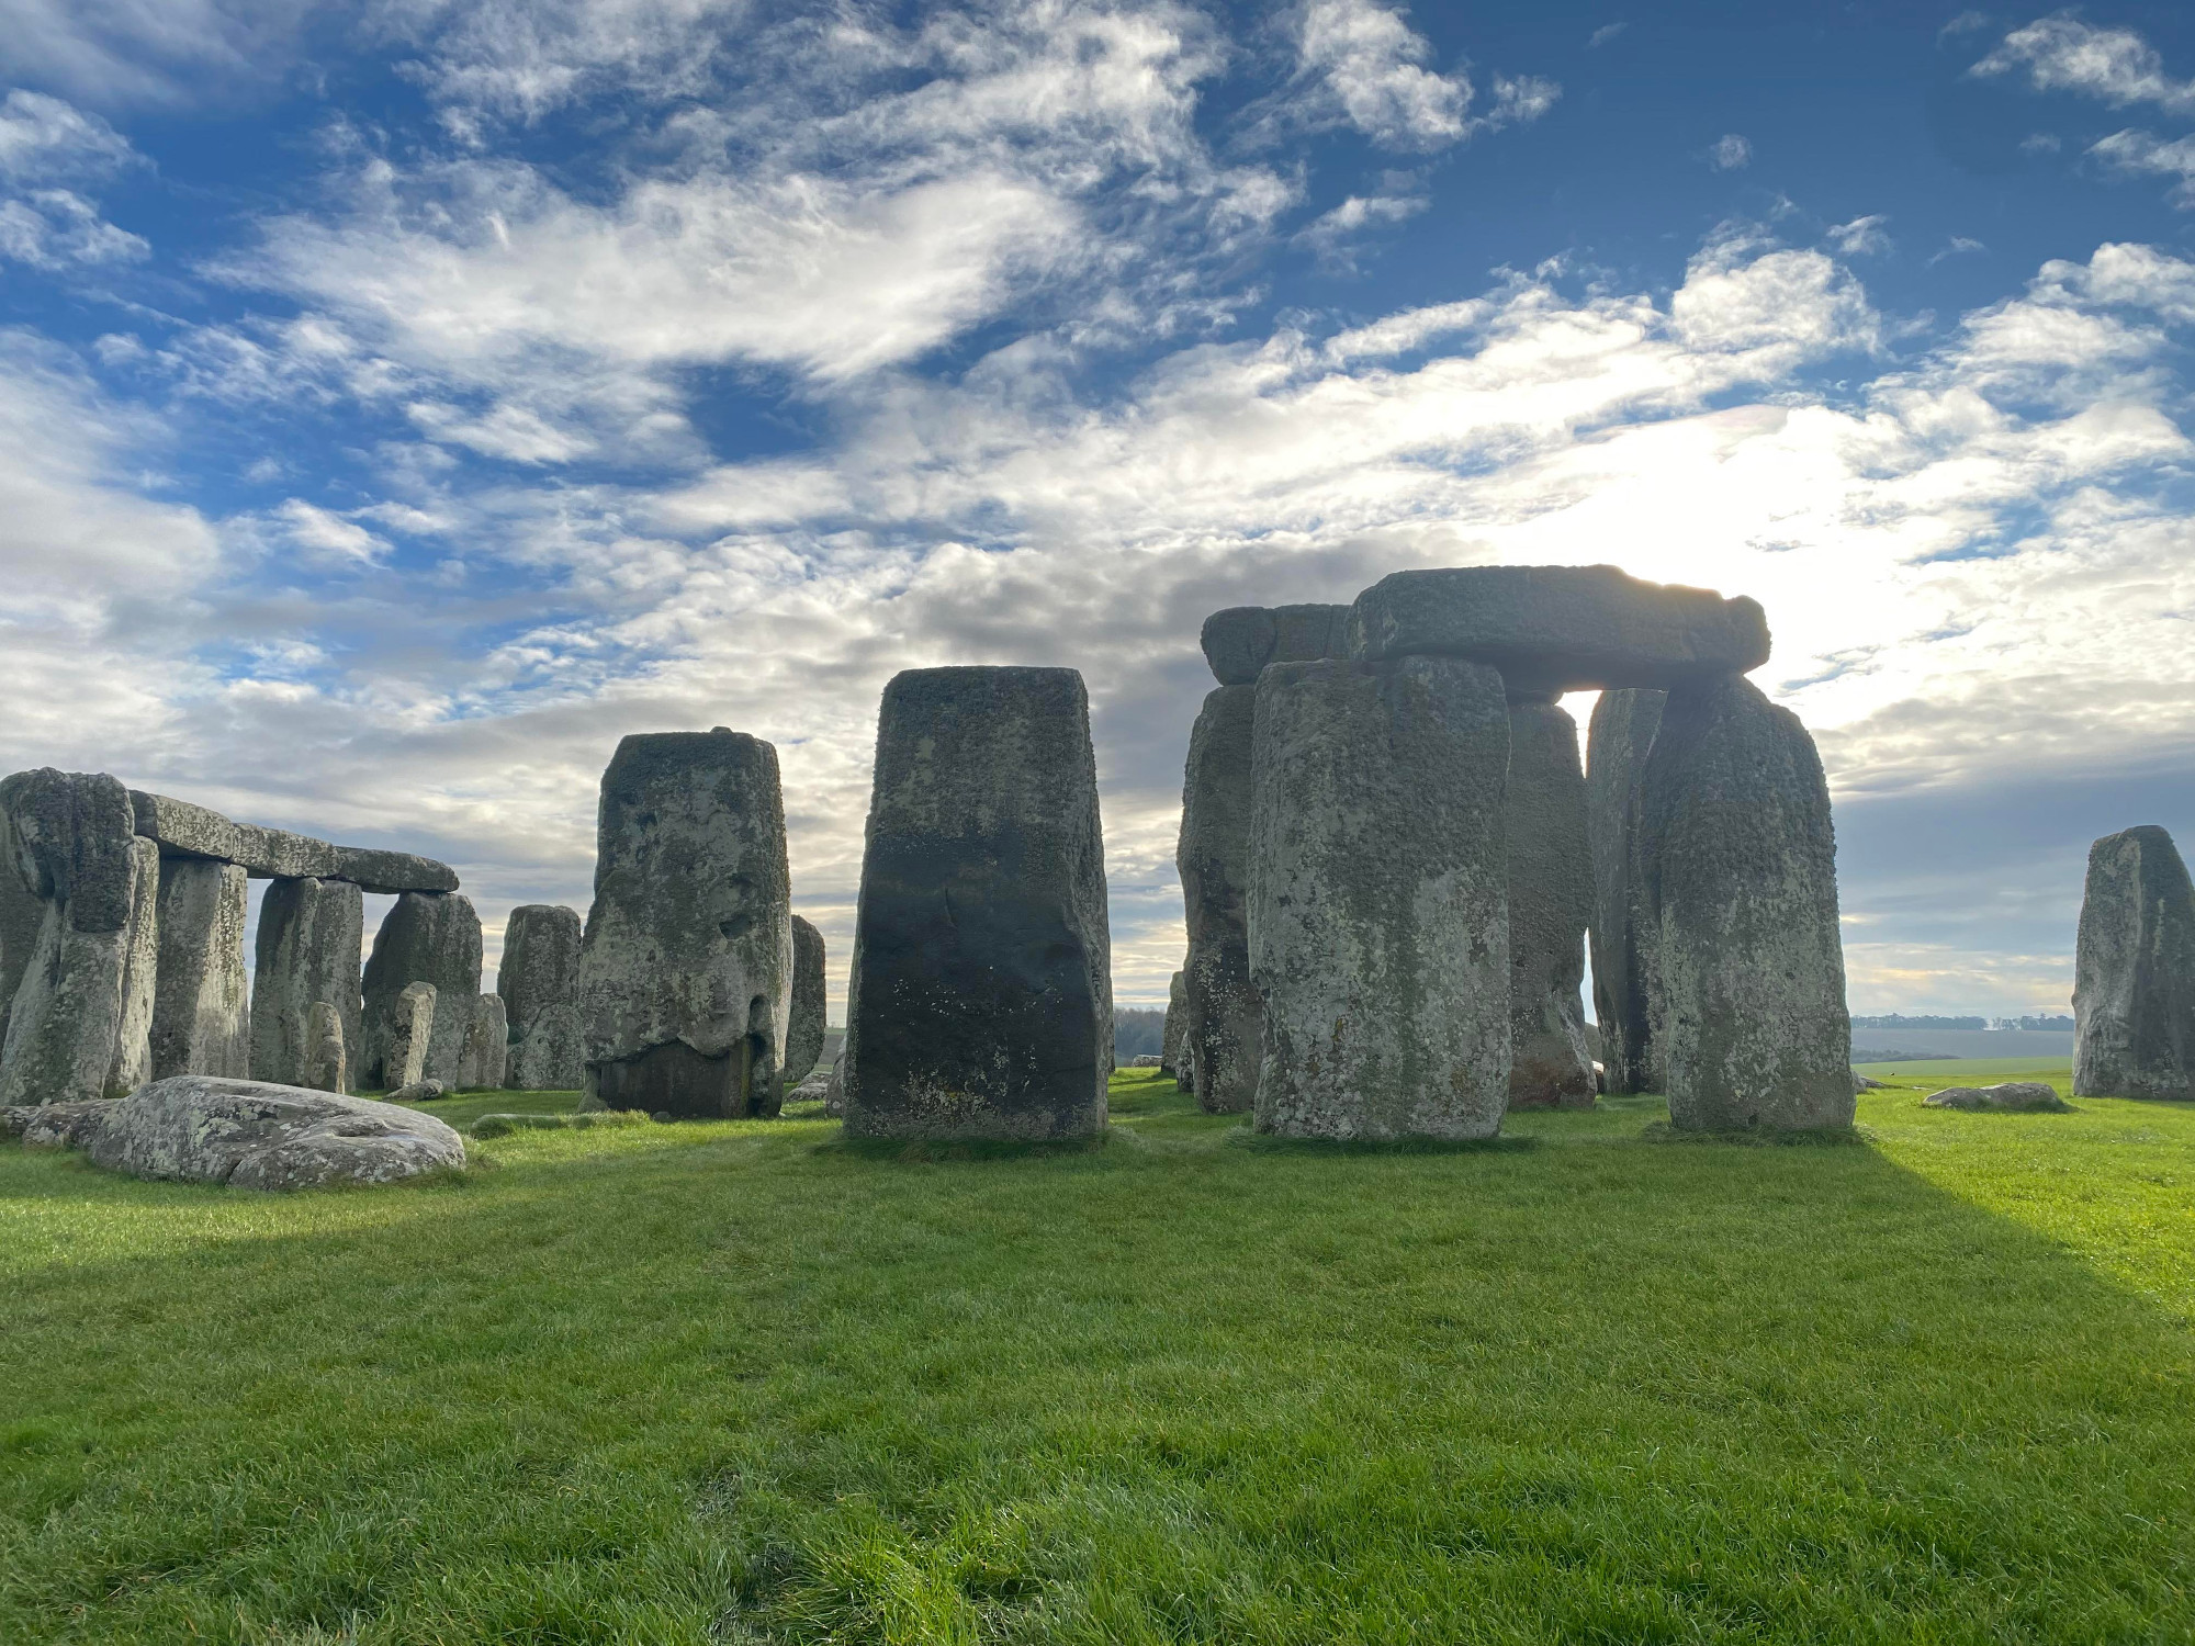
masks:
{"type": "Polygon", "coordinates": [[[160,858],[160,963],[151,1007],[154,1080],[250,1075],[250,979],[244,970],[248,895],[250,880],[235,863],[160,858]]]}

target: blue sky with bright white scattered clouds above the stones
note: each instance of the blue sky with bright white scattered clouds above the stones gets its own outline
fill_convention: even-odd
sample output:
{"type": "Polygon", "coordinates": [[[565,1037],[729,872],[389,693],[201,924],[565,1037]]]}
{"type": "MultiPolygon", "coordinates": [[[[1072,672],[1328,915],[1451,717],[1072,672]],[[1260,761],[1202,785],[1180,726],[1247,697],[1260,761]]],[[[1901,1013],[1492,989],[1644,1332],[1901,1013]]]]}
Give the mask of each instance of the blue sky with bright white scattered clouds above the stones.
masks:
{"type": "Polygon", "coordinates": [[[1407,566],[1760,599],[1855,1012],[2195,830],[2195,7],[0,0],[0,770],[489,970],[722,724],[836,1021],[885,680],[1043,663],[1163,1003],[1203,617],[1407,566]]]}

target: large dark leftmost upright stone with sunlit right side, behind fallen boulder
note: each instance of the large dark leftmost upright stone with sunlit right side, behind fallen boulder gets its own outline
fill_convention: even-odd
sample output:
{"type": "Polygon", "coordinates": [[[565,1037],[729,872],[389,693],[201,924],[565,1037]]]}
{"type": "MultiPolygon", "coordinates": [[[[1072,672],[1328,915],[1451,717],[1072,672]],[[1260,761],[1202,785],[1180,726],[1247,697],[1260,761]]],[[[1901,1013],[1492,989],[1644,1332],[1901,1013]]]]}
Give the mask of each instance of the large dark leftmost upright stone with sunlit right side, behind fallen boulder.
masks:
{"type": "Polygon", "coordinates": [[[42,766],[0,779],[11,865],[42,902],[9,1010],[0,1104],[119,1097],[151,1067],[158,847],[112,777],[42,766]],[[127,1082],[127,1084],[123,1084],[127,1082]]]}

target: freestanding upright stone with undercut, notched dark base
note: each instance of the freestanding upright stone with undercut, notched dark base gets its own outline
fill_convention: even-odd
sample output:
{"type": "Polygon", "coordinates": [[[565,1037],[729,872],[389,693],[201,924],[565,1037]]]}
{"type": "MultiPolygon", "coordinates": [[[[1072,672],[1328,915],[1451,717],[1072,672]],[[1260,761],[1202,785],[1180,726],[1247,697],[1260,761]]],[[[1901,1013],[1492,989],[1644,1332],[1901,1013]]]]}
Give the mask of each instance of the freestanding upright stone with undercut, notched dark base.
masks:
{"type": "Polygon", "coordinates": [[[595,1102],[678,1117],[777,1113],[792,876],[770,744],[718,729],[617,746],[601,775],[577,1003],[595,1102]]]}

